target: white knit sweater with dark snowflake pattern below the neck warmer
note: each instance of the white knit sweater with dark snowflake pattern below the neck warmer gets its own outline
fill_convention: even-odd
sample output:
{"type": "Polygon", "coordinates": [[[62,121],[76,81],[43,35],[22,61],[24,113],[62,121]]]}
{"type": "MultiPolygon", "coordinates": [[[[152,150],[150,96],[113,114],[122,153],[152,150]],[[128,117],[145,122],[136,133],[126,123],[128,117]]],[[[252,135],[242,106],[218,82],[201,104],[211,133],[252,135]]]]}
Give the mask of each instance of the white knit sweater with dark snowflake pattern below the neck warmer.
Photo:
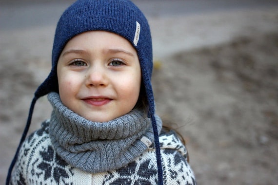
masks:
{"type": "MultiPolygon", "coordinates": [[[[92,174],[67,164],[52,147],[49,122],[32,133],[20,148],[11,185],[157,185],[154,146],[119,169],[92,174]]],[[[187,151],[175,132],[159,136],[164,185],[196,185],[187,151]]]]}

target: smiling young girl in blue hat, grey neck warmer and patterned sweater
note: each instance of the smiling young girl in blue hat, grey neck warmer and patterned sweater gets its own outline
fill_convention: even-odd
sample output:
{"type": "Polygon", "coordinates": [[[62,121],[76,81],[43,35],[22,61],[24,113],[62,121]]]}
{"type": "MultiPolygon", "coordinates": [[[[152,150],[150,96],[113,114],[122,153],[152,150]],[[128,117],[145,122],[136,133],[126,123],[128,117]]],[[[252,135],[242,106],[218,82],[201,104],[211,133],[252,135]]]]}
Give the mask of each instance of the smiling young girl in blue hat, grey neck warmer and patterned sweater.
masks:
{"type": "Polygon", "coordinates": [[[6,184],[195,185],[186,148],[155,114],[152,65],[149,25],[131,1],[72,4],[6,184]],[[46,94],[51,118],[25,140],[46,94]]]}

